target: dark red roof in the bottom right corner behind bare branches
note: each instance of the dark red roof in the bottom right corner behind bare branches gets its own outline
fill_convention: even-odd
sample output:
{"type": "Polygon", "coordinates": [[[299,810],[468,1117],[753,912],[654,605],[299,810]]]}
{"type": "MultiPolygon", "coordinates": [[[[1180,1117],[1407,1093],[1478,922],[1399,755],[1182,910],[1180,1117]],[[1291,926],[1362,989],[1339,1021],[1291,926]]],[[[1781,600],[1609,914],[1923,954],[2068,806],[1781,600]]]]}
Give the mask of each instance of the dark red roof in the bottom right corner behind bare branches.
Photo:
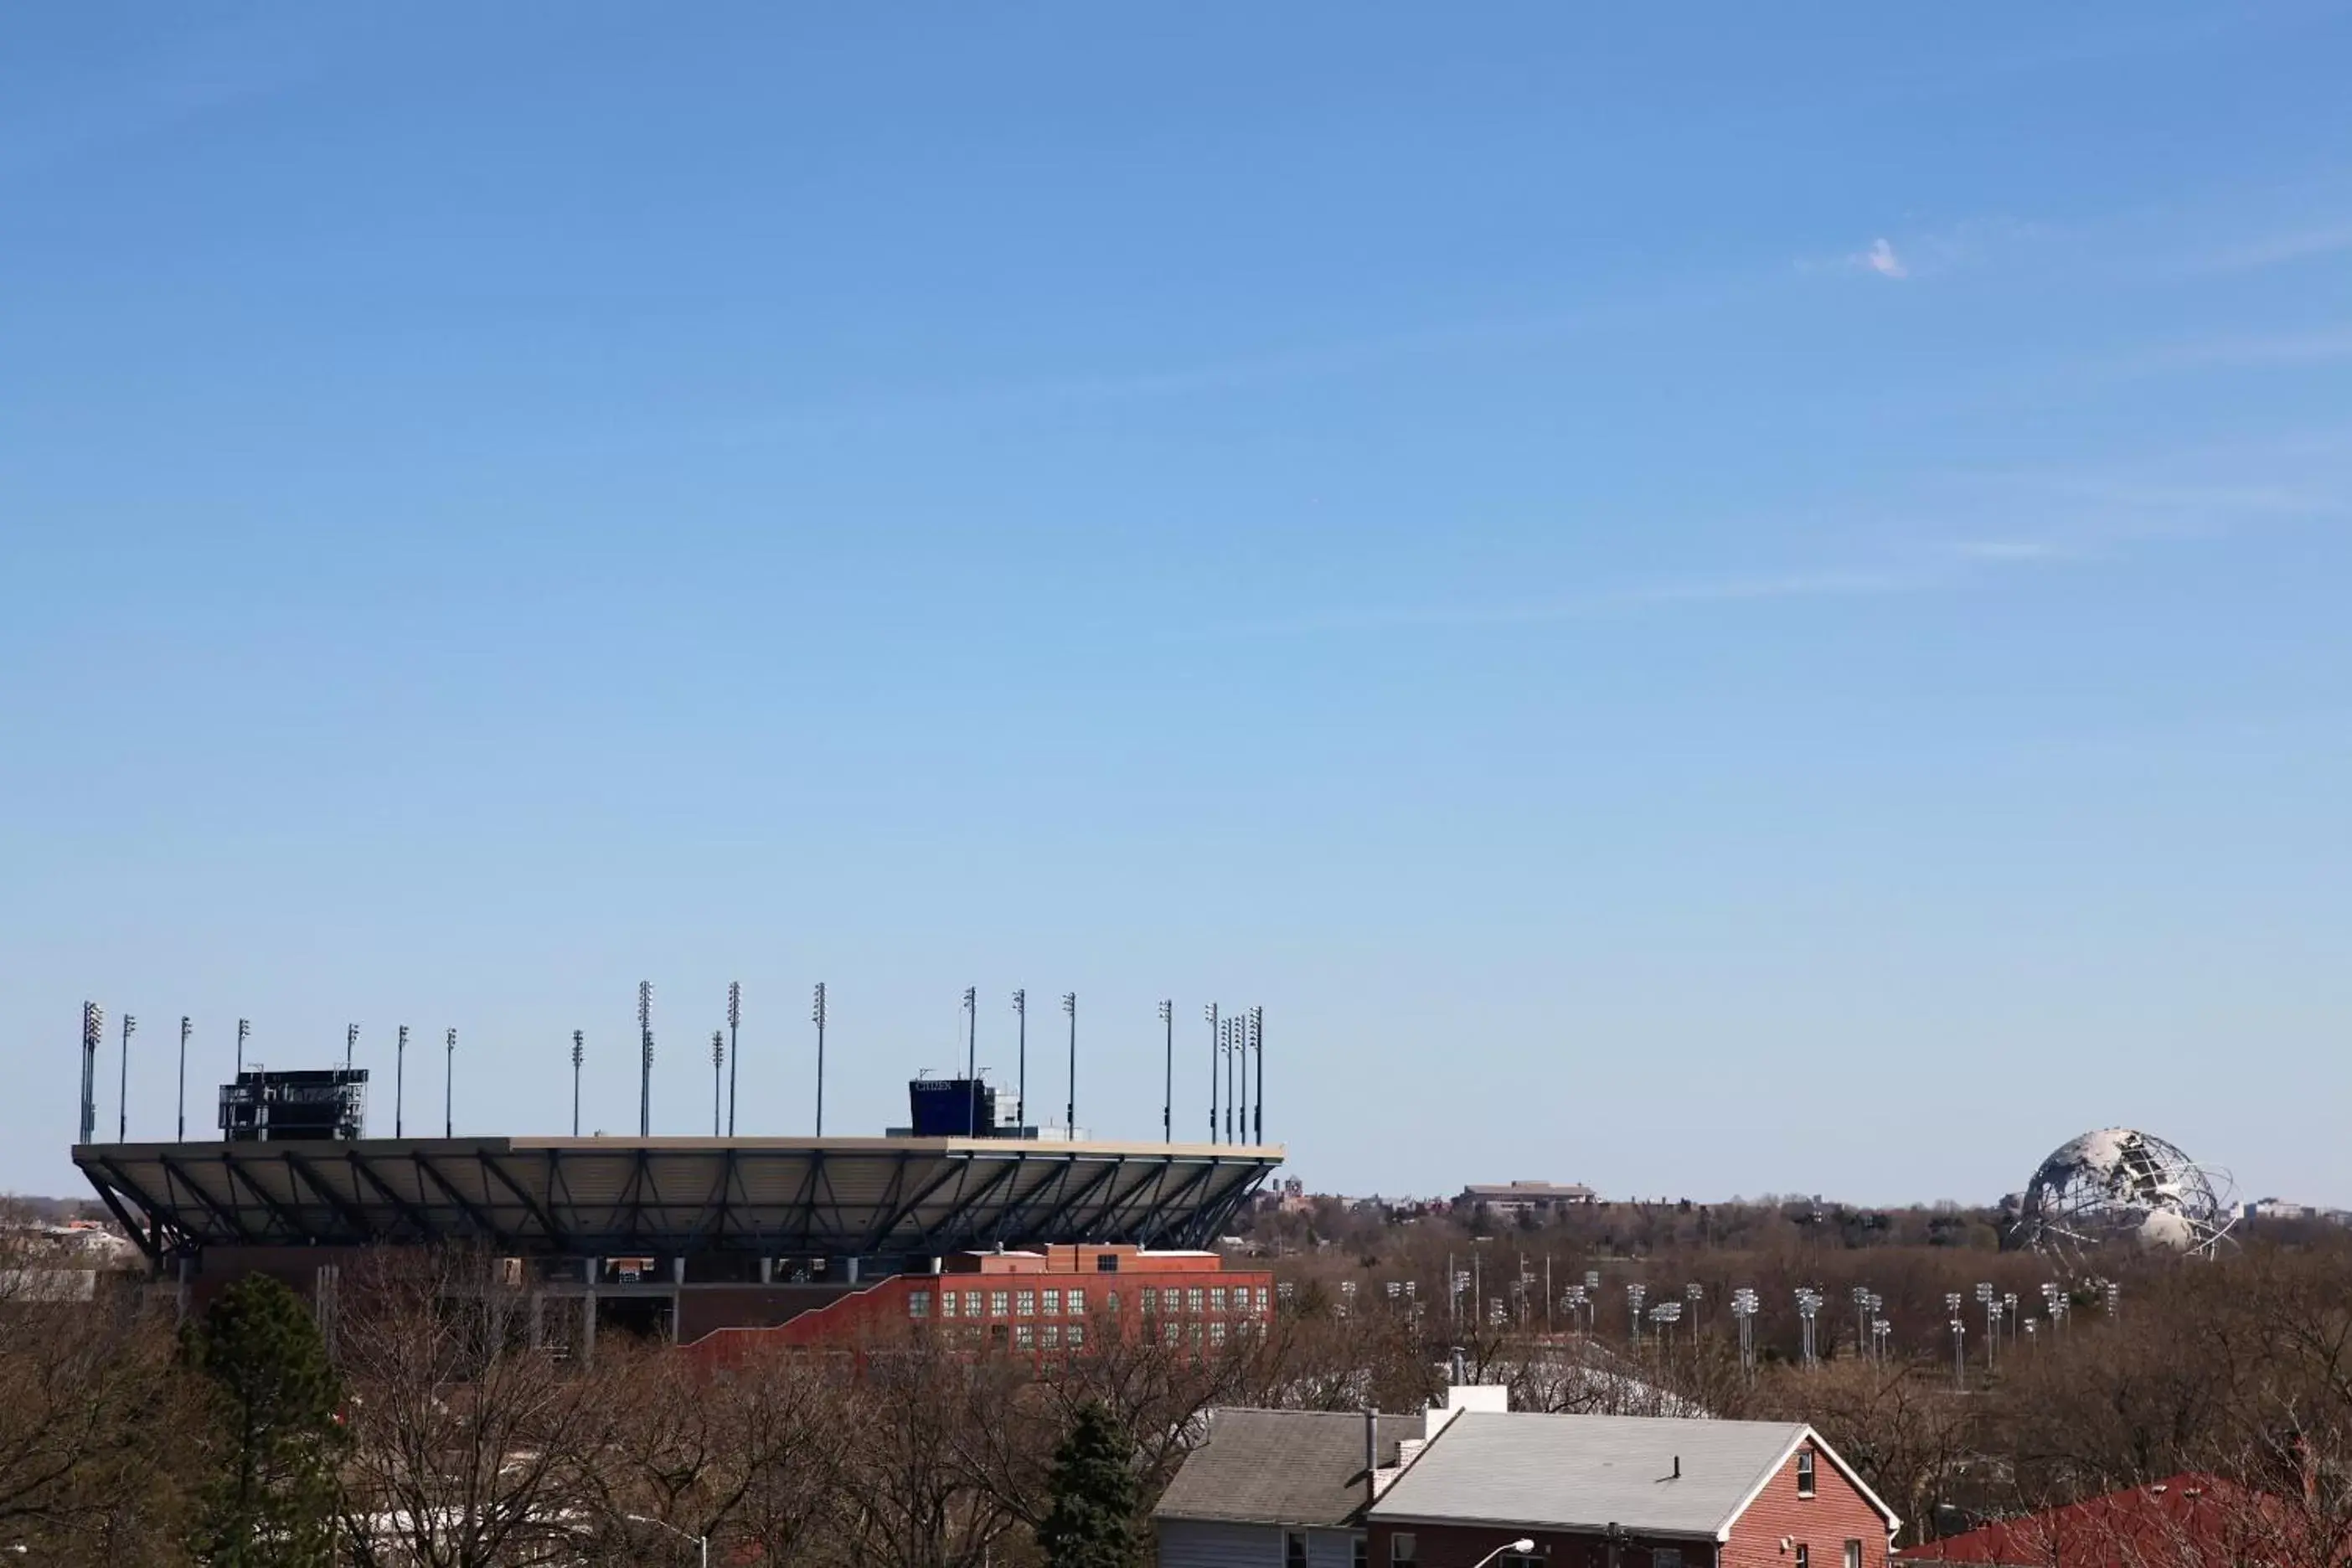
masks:
{"type": "Polygon", "coordinates": [[[1898,1563],[1997,1568],[2150,1568],[2281,1563],[2291,1519],[2277,1497],[2218,1476],[2180,1474],[2044,1514],[2004,1519],[1896,1554],[1898,1563]]]}

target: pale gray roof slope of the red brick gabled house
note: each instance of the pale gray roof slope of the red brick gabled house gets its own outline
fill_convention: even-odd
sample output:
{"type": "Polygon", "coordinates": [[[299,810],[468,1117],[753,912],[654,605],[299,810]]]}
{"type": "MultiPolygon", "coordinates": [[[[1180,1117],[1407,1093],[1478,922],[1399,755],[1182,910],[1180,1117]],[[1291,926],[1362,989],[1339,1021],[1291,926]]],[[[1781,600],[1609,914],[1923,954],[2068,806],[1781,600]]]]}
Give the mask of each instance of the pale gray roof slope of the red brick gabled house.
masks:
{"type": "Polygon", "coordinates": [[[1371,1516],[1712,1537],[1804,1432],[1762,1420],[1456,1415],[1371,1516]]]}

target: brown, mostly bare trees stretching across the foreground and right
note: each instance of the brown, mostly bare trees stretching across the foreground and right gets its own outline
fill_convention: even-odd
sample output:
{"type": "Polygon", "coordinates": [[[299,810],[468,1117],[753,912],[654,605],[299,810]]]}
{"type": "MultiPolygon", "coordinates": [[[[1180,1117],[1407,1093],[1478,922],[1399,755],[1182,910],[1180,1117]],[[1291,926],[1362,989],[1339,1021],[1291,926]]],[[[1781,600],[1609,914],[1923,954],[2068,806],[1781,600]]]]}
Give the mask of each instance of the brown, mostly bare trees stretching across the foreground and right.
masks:
{"type": "MultiPolygon", "coordinates": [[[[2234,1509],[2227,1561],[2352,1554],[2352,1246],[2338,1237],[2138,1260],[2117,1269],[2112,1312],[2072,1281],[2082,1305],[2063,1331],[1990,1359],[1978,1345],[1955,1359],[1926,1331],[1867,1342],[1851,1319],[1837,1328],[1835,1281],[1816,1274],[1818,1363],[1778,1331],[1743,1356],[1710,1298],[1635,1342],[1609,1319],[1449,1312],[1437,1281],[1390,1293],[1399,1274],[1418,1284],[1425,1241],[1454,1253],[1430,1234],[1282,1260],[1275,1324],[1225,1345],[1103,1326],[1047,1356],[901,1324],[854,1349],[727,1363],[607,1335],[586,1363],[529,1345],[527,1291],[463,1251],[348,1267],[327,1321],[259,1276],[191,1324],[165,1288],[73,1305],[0,1291],[0,1552],[492,1568],[691,1563],[708,1542],[717,1563],[1124,1568],[1148,1561],[1150,1505],[1207,1410],[1416,1410],[1458,1354],[1522,1410],[1809,1420],[1905,1516],[1907,1542],[2190,1472],[2227,1483],[2213,1493],[2234,1509]]],[[[1651,1262],[1661,1284],[1684,1272],[1651,1262]]],[[[1731,1260],[1724,1281],[1769,1279],[1771,1262],[1731,1260]]],[[[1823,1262],[1780,1260],[1790,1276],[1823,1262]]],[[[1889,1291],[1938,1312],[2009,1265],[2025,1267],[1872,1255],[1889,1291]]],[[[1555,1260],[1555,1284],[1566,1272],[1555,1260]]],[[[2133,1549],[2152,1568],[2213,1561],[2187,1537],[2171,1559],[2133,1549]]]]}

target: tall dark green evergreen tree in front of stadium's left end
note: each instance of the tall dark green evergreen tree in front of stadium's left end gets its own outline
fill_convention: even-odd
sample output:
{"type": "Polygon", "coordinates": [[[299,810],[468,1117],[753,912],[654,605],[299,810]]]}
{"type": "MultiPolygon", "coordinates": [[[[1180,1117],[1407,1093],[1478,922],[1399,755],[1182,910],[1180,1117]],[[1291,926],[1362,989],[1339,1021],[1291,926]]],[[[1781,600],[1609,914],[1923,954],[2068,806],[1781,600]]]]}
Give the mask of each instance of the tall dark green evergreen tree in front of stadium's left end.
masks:
{"type": "Polygon", "coordinates": [[[334,1561],[341,1389],[310,1309],[266,1274],[221,1293],[191,1335],[212,1406],[214,1474],[191,1542],[212,1568],[334,1561]]]}

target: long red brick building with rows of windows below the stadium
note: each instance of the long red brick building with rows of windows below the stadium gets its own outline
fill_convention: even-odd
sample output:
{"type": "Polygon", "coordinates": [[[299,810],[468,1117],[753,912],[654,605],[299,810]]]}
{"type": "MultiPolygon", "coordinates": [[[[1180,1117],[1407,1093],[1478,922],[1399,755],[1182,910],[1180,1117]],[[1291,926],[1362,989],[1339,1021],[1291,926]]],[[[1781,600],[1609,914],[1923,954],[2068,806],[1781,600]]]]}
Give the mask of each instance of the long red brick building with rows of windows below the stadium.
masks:
{"type": "Polygon", "coordinates": [[[894,1274],[764,1328],[717,1328],[694,1349],[729,1359],[753,1347],[854,1349],[927,1328],[971,1349],[1084,1349],[1103,1335],[1200,1352],[1263,1331],[1275,1276],[1228,1269],[1216,1253],[1141,1246],[1044,1246],[955,1253],[936,1274],[894,1274]]]}

